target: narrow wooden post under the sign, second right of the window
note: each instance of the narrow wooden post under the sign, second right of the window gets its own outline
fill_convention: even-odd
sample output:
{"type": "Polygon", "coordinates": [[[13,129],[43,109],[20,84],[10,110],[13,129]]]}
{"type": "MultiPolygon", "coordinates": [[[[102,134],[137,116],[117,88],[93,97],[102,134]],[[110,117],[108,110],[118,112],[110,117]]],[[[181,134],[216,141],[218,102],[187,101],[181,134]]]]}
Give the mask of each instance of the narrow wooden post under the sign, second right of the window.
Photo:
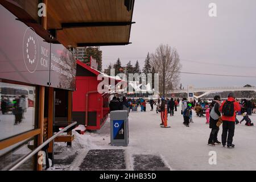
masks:
{"type": "MultiPolygon", "coordinates": [[[[52,137],[53,135],[53,104],[54,104],[54,89],[49,87],[48,93],[48,138],[52,137]]],[[[53,151],[53,142],[49,143],[48,152],[52,153],[53,151]]]]}

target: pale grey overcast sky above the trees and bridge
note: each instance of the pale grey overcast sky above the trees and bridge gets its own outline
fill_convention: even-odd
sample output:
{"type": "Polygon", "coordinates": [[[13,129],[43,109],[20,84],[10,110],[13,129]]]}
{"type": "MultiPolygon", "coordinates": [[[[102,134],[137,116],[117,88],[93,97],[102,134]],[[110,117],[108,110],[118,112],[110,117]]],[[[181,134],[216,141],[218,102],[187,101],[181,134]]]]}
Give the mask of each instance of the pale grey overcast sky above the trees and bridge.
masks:
{"type": "Polygon", "coordinates": [[[118,57],[123,65],[139,60],[142,68],[147,52],[163,43],[179,52],[182,72],[254,76],[181,73],[184,87],[256,86],[255,0],[136,0],[133,21],[133,44],[101,47],[103,68],[118,57]],[[209,3],[216,3],[217,17],[209,17],[209,3]]]}

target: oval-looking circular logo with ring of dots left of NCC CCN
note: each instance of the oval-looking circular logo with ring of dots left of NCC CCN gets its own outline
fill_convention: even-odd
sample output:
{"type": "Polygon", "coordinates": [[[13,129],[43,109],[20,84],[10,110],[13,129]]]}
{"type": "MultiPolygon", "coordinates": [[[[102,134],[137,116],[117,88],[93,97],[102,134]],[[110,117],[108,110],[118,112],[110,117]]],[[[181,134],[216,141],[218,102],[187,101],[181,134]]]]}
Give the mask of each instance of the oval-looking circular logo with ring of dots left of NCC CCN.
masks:
{"type": "Polygon", "coordinates": [[[38,67],[38,35],[32,27],[28,27],[23,36],[23,60],[27,71],[34,73],[38,67]]]}

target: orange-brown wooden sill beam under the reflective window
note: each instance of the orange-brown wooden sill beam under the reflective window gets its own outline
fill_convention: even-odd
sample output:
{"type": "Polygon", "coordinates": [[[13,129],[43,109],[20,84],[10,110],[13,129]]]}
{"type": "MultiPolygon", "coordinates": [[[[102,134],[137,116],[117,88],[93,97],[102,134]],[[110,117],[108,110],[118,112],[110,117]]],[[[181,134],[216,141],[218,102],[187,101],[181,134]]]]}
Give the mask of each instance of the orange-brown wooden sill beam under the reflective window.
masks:
{"type": "Polygon", "coordinates": [[[40,134],[40,129],[28,131],[26,133],[17,135],[15,137],[12,137],[12,138],[9,138],[9,139],[6,139],[6,140],[2,140],[0,142],[0,150],[2,150],[4,148],[7,148],[7,147],[10,147],[13,144],[22,142],[23,140],[26,140],[28,138],[35,137],[38,134],[40,134]]]}

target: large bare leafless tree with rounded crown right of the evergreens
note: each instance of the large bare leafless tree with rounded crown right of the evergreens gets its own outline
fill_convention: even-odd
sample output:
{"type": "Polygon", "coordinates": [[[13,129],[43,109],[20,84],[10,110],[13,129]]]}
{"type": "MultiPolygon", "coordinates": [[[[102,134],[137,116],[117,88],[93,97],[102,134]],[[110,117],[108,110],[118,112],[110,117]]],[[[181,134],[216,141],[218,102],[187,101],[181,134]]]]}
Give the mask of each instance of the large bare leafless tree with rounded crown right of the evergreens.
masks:
{"type": "Polygon", "coordinates": [[[162,96],[175,89],[180,82],[180,58],[177,50],[168,44],[161,44],[151,55],[151,64],[159,73],[159,93],[162,96]]]}

